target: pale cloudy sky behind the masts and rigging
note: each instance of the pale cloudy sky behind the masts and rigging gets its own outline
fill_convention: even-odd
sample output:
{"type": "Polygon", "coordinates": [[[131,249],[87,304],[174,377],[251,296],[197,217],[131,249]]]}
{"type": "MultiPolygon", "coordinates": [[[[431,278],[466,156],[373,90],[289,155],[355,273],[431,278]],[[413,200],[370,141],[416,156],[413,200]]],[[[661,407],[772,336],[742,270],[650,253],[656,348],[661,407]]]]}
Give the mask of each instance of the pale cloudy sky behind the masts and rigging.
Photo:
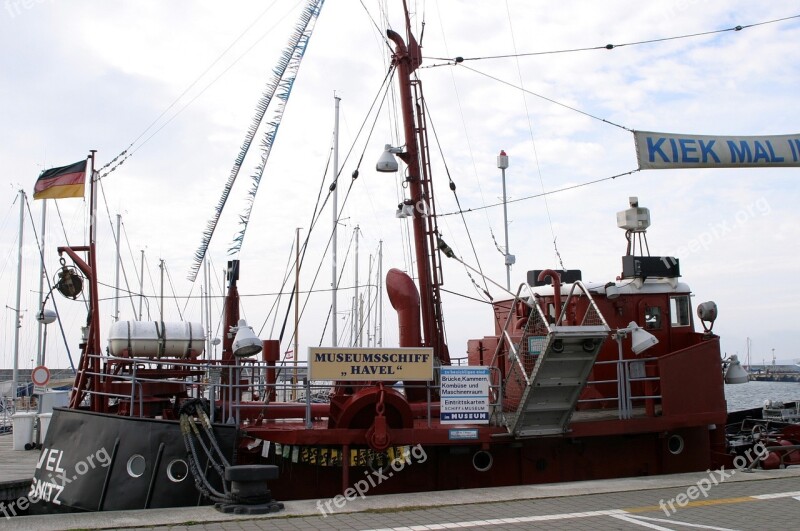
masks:
{"type": "MultiPolygon", "coordinates": [[[[38,174],[73,163],[90,149],[103,165],[132,145],[125,163],[103,180],[98,211],[99,276],[103,329],[114,312],[114,241],[117,214],[129,289],[138,292],[141,251],[145,255],[145,318],[158,317],[159,260],[166,263],[165,319],[200,319],[199,284],[186,281],[206,221],[211,218],[239,152],[257,100],[271,78],[305,2],[237,1],[63,1],[0,0],[0,293],[4,300],[0,366],[13,355],[18,190],[28,194],[25,214],[23,310],[20,366],[35,358],[38,251],[41,201],[31,198],[38,174]],[[177,294],[178,302],[172,298],[177,294]],[[187,299],[189,295],[193,298],[187,299]],[[189,302],[187,302],[187,300],[189,302]],[[180,315],[179,315],[180,311],[180,315]]],[[[426,57],[419,76],[429,108],[437,210],[457,209],[447,188],[439,151],[465,208],[493,205],[502,195],[496,156],[510,155],[509,196],[520,199],[605,179],[637,167],[633,137],[609,125],[532,94],[628,129],[718,135],[798,133],[800,106],[800,19],[757,25],[742,31],[571,53],[511,56],[608,43],[625,44],[713,32],[737,25],[800,14],[800,5],[744,1],[634,2],[599,4],[565,0],[447,1],[413,3],[414,27],[423,27],[426,57]],[[588,7],[590,6],[591,7],[588,7]]],[[[327,2],[300,68],[284,120],[255,202],[242,251],[243,312],[261,337],[278,337],[286,298],[270,313],[281,289],[295,236],[305,238],[324,181],[332,144],[334,94],[341,98],[340,205],[359,168],[344,206],[339,235],[344,262],[337,318],[340,337],[349,338],[354,294],[354,249],[359,226],[360,284],[368,281],[369,258],[384,242],[384,272],[409,269],[403,222],[394,213],[403,190],[400,177],[378,174],[374,164],[386,143],[397,140],[391,92],[377,117],[368,115],[382,98],[387,70],[386,27],[402,32],[398,1],[327,2]],[[359,133],[360,130],[362,130],[359,133]],[[349,153],[349,155],[348,155],[349,153]]],[[[394,84],[393,84],[394,88],[394,84]]],[[[271,112],[269,113],[271,116],[271,112]]],[[[258,142],[261,133],[258,135],[258,142]]],[[[220,294],[227,250],[245,207],[249,176],[259,151],[245,163],[212,241],[214,287],[220,294]]],[[[723,350],[744,355],[752,339],[753,360],[800,358],[794,336],[800,310],[797,258],[800,255],[798,169],[642,171],[596,184],[509,205],[510,249],[517,257],[512,284],[528,269],[581,269],[591,281],[613,280],[625,252],[616,212],[629,196],[651,211],[648,233],[653,254],[681,259],[683,280],[694,302],[714,300],[714,331],[723,350]],[[553,241],[556,241],[554,246],[553,241]]],[[[85,242],[86,203],[80,199],[48,206],[47,264],[58,265],[54,247],[65,239],[85,242]]],[[[330,285],[328,241],[331,213],[326,204],[311,234],[301,288],[330,285]]],[[[491,207],[440,218],[440,229],[456,253],[505,283],[502,209],[491,207]],[[466,229],[464,225],[466,221],[466,229]]],[[[479,297],[465,269],[448,262],[445,288],[479,297]]],[[[124,287],[124,286],[123,286],[124,287]]],[[[284,289],[289,289],[285,287],[284,289]]],[[[492,289],[495,296],[501,292],[492,289]]],[[[372,293],[374,295],[374,291],[372,293]]],[[[363,296],[366,296],[366,292],[363,296]]],[[[80,301],[56,295],[68,343],[77,359],[78,328],[85,320],[80,301]]],[[[322,335],[330,294],[312,296],[300,328],[301,351],[327,343],[322,335]]],[[[450,350],[463,355],[466,340],[491,333],[485,304],[446,294],[444,315],[450,350]]],[[[120,302],[120,317],[138,312],[139,299],[120,302]]],[[[396,324],[384,298],[384,344],[396,342],[396,324]]],[[[216,327],[219,299],[212,305],[216,327]]],[[[374,315],[374,313],[373,313],[374,315]]],[[[291,322],[291,316],[290,316],[291,322]]],[[[66,366],[60,333],[50,327],[48,365],[66,366]]],[[[284,334],[289,348],[291,325],[284,334]]],[[[215,331],[219,335],[218,331],[215,331]]]]}

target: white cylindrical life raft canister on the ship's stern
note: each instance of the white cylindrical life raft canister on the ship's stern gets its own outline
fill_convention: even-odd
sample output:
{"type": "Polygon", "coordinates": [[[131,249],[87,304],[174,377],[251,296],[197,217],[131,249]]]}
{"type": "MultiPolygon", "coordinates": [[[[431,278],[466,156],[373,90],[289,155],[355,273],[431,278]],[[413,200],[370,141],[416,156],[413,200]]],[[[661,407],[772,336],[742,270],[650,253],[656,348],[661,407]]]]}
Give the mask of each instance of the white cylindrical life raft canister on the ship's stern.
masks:
{"type": "Polygon", "coordinates": [[[205,348],[200,323],[117,321],[108,333],[112,356],[128,358],[196,358],[205,348]]]}

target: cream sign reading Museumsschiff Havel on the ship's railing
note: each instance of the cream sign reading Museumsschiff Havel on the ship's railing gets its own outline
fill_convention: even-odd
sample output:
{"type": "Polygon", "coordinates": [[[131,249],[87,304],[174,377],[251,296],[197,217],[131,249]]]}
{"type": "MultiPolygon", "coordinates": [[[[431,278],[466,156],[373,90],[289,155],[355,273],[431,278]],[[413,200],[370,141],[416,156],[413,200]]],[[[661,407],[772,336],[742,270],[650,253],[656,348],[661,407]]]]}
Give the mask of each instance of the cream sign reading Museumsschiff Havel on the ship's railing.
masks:
{"type": "Polygon", "coordinates": [[[430,381],[432,348],[332,348],[308,349],[311,380],[430,381]]]}

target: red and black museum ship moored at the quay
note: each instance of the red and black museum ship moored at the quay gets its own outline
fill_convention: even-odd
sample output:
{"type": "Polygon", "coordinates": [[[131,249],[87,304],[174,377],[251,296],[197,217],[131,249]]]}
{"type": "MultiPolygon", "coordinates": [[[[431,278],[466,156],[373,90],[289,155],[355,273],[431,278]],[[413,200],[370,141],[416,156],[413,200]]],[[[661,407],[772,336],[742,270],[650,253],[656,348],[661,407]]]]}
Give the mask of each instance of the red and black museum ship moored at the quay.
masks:
{"type": "Polygon", "coordinates": [[[88,280],[89,326],[70,405],[54,411],[43,443],[32,513],[207,503],[265,512],[280,509],[275,499],[733,465],[716,305],[697,306],[695,330],[678,259],[644,252],[649,211],[636,198],[617,215],[621,274],[584,283],[578,270],[532,269],[492,304],[494,329],[468,342],[468,364],[451,363],[440,297],[451,251],[436,226],[413,76],[422,57],[407,30],[387,31],[405,132],[405,149],[390,155],[407,166],[417,266],[416,282],[398,269],[386,276],[399,345],[312,349],[307,363],[281,364],[279,343],[241,319],[231,261],[221,360],[205,355],[194,325],[160,322],[116,323],[104,352],[92,228],[88,246],[59,248],[74,266],[62,263],[57,288],[75,297],[77,277],[88,280]]]}

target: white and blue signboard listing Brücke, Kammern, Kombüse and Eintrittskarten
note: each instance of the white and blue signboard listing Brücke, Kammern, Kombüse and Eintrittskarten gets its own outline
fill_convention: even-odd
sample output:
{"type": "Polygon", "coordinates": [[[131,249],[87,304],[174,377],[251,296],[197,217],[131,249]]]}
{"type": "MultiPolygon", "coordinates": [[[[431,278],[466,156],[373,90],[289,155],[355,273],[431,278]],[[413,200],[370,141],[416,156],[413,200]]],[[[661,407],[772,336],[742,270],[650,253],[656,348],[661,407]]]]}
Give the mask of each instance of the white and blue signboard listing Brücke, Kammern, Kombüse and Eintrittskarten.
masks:
{"type": "Polygon", "coordinates": [[[489,424],[489,367],[442,367],[442,424],[489,424]]]}

